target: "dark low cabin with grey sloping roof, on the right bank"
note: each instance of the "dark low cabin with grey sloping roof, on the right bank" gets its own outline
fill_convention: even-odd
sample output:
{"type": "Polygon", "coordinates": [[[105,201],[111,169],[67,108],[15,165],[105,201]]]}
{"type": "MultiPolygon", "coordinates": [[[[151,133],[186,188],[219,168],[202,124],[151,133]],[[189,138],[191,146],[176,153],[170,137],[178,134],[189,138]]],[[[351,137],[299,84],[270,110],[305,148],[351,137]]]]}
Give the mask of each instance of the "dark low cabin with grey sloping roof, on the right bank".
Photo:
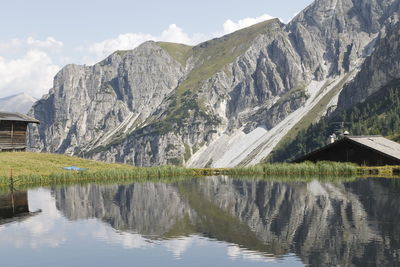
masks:
{"type": "Polygon", "coordinates": [[[294,162],[337,161],[365,166],[400,165],[400,144],[382,136],[346,136],[294,162]]]}

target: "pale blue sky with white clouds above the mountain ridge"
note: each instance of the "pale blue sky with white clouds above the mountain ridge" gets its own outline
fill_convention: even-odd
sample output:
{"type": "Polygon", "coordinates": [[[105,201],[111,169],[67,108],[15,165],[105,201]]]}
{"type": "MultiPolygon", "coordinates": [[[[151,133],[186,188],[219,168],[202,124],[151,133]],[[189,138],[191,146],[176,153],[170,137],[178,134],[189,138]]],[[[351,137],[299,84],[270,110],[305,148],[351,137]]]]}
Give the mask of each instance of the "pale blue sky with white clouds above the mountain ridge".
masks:
{"type": "Polygon", "coordinates": [[[6,0],[0,98],[22,92],[40,98],[67,64],[92,65],[148,40],[195,45],[274,17],[286,23],[311,2],[6,0]]]}

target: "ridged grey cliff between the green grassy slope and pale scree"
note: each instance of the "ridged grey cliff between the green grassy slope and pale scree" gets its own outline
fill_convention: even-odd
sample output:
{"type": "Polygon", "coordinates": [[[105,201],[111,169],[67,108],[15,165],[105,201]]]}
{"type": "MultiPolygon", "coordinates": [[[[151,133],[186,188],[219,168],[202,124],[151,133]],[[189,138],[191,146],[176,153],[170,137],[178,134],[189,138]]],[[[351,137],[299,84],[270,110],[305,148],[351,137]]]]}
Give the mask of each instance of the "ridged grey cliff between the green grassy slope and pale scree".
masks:
{"type": "MultiPolygon", "coordinates": [[[[280,113],[275,105],[276,99],[283,99],[291,90],[304,89],[304,84],[312,79],[302,71],[301,59],[287,40],[288,34],[283,28],[274,29],[272,34],[258,38],[231,65],[234,80],[229,86],[231,90],[226,110],[231,128],[240,128],[250,121],[256,126],[263,125],[270,129],[296,110],[296,107],[289,106],[286,107],[286,113],[280,113]],[[257,112],[264,113],[263,119],[253,119],[257,112]],[[271,119],[279,116],[281,118],[277,120],[271,119]]],[[[305,103],[305,98],[296,100],[300,102],[299,105],[305,103]]]]}

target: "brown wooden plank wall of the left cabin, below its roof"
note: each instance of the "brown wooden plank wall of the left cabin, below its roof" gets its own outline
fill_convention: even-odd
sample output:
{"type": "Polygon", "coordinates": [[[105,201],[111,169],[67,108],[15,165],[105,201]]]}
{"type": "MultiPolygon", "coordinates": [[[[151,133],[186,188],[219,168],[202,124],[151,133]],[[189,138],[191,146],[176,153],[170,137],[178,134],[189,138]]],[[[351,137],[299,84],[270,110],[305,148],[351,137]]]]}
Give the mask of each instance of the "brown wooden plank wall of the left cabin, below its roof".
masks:
{"type": "Polygon", "coordinates": [[[26,147],[26,122],[0,121],[0,149],[26,147]]]}

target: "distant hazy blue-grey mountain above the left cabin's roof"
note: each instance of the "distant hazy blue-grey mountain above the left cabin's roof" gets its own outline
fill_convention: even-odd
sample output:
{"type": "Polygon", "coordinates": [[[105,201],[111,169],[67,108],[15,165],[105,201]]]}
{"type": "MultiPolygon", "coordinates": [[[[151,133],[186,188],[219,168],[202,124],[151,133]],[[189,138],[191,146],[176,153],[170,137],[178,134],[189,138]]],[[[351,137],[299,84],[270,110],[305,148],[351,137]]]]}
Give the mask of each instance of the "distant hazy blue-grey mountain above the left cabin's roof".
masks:
{"type": "Polygon", "coordinates": [[[25,94],[17,94],[0,98],[0,110],[26,114],[37,99],[25,94]]]}

